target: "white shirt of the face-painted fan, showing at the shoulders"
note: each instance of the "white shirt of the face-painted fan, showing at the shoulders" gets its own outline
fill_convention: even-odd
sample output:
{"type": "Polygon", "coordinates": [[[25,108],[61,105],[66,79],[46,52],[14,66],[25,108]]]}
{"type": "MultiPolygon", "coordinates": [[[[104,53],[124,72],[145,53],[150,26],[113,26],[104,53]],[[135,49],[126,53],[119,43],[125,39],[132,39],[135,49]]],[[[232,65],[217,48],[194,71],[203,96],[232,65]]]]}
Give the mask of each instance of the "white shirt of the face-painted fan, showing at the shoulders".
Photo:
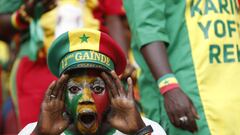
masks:
{"type": "MultiPolygon", "coordinates": [[[[142,119],[143,119],[145,125],[151,125],[152,126],[153,132],[152,132],[151,135],[166,135],[163,128],[157,122],[154,122],[154,121],[149,120],[149,119],[144,118],[144,117],[142,117],[142,119]]],[[[36,125],[37,125],[37,122],[28,124],[18,133],[18,135],[30,135],[33,132],[36,125]]],[[[65,135],[65,134],[61,133],[61,135],[65,135]]],[[[113,135],[126,135],[126,134],[123,134],[122,132],[116,130],[116,132],[113,135]]]]}

